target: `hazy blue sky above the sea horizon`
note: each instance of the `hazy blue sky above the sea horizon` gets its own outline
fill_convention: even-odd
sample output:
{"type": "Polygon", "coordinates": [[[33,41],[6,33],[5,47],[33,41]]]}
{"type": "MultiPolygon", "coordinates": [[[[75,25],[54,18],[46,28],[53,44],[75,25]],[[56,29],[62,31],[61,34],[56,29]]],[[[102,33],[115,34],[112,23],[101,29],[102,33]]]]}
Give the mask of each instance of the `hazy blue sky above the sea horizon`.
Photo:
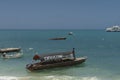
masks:
{"type": "Polygon", "coordinates": [[[120,24],[120,0],[0,0],[0,29],[104,29],[120,24]]]}

